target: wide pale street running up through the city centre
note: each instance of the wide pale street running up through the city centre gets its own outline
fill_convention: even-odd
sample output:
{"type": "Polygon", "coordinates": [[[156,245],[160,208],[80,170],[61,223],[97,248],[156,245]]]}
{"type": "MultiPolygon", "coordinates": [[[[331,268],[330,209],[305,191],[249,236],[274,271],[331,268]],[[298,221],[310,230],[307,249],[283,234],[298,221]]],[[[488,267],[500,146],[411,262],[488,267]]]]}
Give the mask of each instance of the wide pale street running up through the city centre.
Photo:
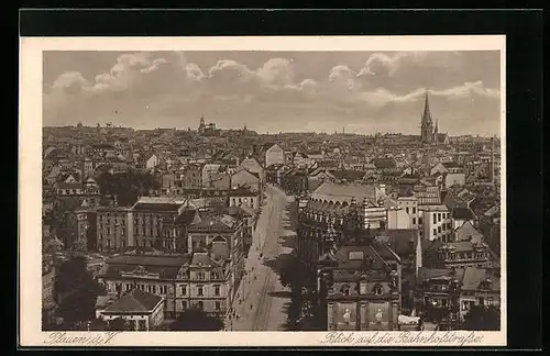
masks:
{"type": "Polygon", "coordinates": [[[268,267],[279,256],[289,257],[292,247],[285,247],[286,236],[295,235],[288,220],[288,204],[294,198],[275,187],[266,188],[266,203],[257,221],[252,246],[246,258],[246,276],[242,279],[233,302],[239,318],[226,321],[227,330],[285,330],[285,304],[289,290],[280,285],[277,272],[268,267]],[[263,258],[260,255],[263,255],[263,258]],[[285,298],[286,297],[286,298],[285,298]]]}

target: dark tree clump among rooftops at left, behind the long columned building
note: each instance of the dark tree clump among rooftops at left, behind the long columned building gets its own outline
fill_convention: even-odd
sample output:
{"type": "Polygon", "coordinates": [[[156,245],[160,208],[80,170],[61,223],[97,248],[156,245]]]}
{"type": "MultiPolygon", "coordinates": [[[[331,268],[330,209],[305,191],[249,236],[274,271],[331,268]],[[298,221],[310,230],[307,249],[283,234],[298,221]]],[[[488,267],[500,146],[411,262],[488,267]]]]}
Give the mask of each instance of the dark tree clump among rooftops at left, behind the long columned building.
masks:
{"type": "Polygon", "coordinates": [[[131,207],[141,196],[161,188],[161,183],[148,171],[129,170],[124,173],[101,173],[97,179],[101,194],[117,196],[121,207],[131,207]]]}

